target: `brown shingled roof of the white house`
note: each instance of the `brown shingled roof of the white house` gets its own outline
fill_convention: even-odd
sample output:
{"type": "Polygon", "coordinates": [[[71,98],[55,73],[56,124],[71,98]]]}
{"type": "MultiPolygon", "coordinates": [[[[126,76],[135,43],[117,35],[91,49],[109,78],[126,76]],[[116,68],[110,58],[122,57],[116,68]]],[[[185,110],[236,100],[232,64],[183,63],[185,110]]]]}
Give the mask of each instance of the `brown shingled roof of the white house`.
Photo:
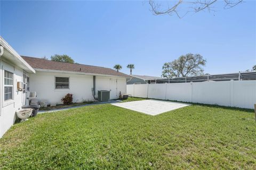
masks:
{"type": "Polygon", "coordinates": [[[71,71],[79,73],[92,73],[102,75],[116,75],[122,77],[129,77],[129,75],[117,72],[113,69],[106,67],[84,65],[84,64],[71,64],[64,62],[55,62],[51,60],[44,60],[43,58],[35,58],[28,56],[21,56],[31,67],[44,70],[58,70],[58,71],[71,71]]]}

